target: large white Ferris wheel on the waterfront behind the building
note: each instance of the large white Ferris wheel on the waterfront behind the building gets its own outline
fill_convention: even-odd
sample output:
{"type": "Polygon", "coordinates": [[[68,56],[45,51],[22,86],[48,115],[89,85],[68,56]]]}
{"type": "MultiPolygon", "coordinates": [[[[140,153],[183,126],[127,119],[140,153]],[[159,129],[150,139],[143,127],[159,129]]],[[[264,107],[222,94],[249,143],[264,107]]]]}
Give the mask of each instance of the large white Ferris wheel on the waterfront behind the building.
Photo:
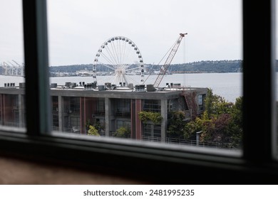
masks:
{"type": "Polygon", "coordinates": [[[96,53],[93,63],[93,80],[98,75],[110,74],[110,82],[128,86],[143,84],[145,67],[139,48],[124,36],[115,36],[105,41],[96,53]],[[140,75],[140,76],[138,76],[140,75]]]}

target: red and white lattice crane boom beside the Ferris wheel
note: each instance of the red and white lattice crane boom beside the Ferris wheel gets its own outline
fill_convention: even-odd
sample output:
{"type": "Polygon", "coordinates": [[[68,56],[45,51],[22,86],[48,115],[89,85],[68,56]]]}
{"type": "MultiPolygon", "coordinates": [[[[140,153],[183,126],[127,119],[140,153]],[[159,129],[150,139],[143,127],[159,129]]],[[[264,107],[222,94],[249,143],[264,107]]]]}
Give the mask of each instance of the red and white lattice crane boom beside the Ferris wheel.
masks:
{"type": "Polygon", "coordinates": [[[175,53],[177,53],[177,49],[180,46],[182,38],[184,38],[185,35],[187,35],[187,33],[180,33],[179,38],[177,38],[177,41],[175,42],[174,47],[172,48],[170,54],[168,55],[167,60],[165,61],[164,65],[160,68],[158,77],[156,78],[155,83],[153,84],[154,87],[158,87],[160,85],[160,82],[163,79],[164,75],[166,74],[170,63],[172,62],[173,58],[175,57],[175,53]]]}

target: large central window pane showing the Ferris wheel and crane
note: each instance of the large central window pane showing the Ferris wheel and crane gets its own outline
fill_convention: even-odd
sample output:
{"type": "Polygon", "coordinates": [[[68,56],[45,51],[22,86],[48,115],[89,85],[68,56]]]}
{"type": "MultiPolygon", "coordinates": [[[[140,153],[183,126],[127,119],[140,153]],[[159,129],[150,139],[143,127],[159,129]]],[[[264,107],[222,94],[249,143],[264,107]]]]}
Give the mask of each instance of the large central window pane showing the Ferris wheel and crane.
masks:
{"type": "Polygon", "coordinates": [[[241,149],[240,0],[47,3],[53,130],[241,149]]]}

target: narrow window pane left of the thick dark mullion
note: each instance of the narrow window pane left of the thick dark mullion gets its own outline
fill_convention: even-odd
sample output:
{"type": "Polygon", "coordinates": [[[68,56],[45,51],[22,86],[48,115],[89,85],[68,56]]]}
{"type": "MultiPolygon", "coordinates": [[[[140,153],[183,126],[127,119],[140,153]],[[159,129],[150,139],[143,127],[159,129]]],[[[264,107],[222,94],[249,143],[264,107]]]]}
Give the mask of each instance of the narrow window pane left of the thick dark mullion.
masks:
{"type": "Polygon", "coordinates": [[[22,4],[3,0],[0,7],[0,125],[25,129],[22,4]]]}

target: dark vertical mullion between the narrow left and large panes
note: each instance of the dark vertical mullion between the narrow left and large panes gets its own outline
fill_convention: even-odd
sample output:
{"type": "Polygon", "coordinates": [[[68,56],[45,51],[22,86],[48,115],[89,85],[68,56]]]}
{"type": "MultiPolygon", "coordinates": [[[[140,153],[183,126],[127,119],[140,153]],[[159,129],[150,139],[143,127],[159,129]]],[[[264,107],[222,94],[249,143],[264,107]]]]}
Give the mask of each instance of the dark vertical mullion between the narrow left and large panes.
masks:
{"type": "Polygon", "coordinates": [[[26,125],[28,134],[51,131],[46,0],[23,0],[26,125]]]}

